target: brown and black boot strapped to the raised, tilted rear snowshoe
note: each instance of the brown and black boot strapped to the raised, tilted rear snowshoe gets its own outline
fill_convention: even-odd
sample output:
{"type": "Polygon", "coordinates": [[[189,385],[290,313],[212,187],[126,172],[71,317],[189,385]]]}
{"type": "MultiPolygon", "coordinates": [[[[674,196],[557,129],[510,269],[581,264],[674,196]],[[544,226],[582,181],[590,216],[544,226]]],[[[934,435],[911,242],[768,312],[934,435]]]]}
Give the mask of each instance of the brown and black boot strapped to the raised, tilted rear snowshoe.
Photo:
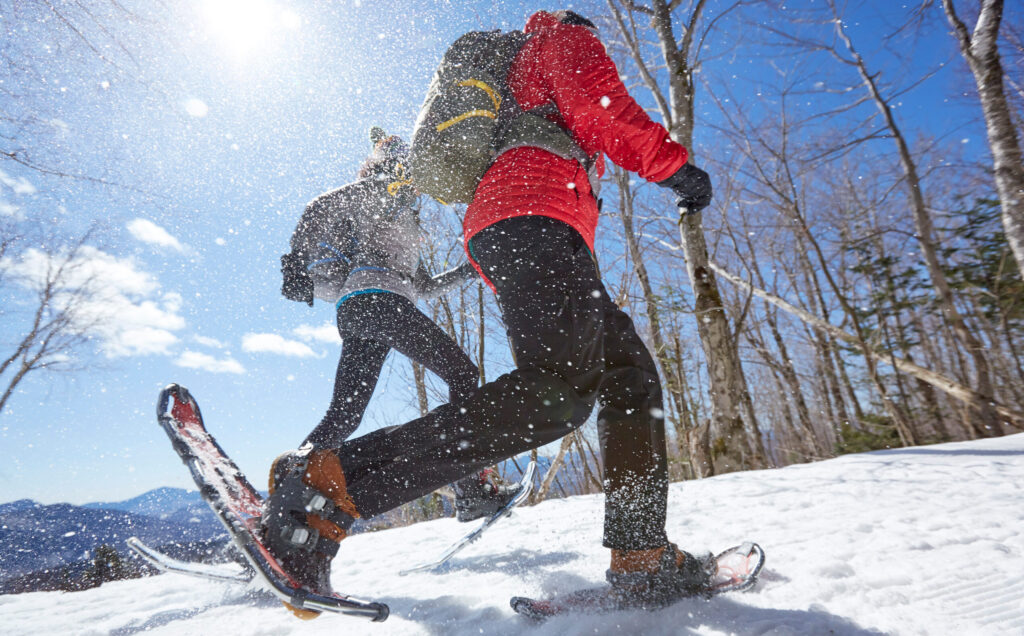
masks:
{"type": "MultiPolygon", "coordinates": [[[[264,543],[300,587],[331,594],[331,560],[359,516],[338,456],[310,449],[285,453],[270,466],[269,490],[261,519],[264,543]]],[[[299,618],[318,613],[288,607],[299,618]]]]}

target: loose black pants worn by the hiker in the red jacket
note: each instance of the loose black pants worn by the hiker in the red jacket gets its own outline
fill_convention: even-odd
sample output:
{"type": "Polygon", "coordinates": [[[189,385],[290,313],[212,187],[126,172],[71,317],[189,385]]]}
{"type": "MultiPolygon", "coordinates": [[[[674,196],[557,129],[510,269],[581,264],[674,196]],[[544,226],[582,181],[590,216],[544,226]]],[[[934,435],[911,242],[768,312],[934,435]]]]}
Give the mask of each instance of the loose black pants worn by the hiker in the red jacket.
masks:
{"type": "Polygon", "coordinates": [[[471,241],[495,284],[516,370],[455,405],[339,449],[364,516],[562,437],[600,399],[604,545],[666,545],[668,474],[654,362],[608,297],[580,235],[547,217],[496,223],[471,241]]]}

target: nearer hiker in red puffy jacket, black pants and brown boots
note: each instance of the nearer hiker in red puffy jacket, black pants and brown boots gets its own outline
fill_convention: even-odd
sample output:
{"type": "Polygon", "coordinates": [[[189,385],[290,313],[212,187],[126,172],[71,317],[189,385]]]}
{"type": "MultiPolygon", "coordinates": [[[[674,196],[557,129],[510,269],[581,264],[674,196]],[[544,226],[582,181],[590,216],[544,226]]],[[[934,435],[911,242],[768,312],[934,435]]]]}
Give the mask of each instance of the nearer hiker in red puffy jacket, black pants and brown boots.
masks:
{"type": "Polygon", "coordinates": [[[598,274],[598,202],[589,177],[603,170],[606,155],[672,189],[690,212],[710,203],[711,181],[629,95],[589,20],[540,11],[525,32],[531,37],[508,75],[516,100],[526,111],[546,107],[546,117],[593,160],[514,147],[495,160],[467,209],[467,252],[496,292],[516,369],[458,405],[313,452],[301,470],[280,476],[288,487],[276,492],[318,492],[335,504],[330,514],[316,515],[301,499],[271,495],[263,516],[271,549],[311,590],[330,590],[331,559],[354,517],[558,439],[581,426],[596,401],[612,588],[633,600],[662,602],[707,584],[700,559],[666,535],[657,369],[598,274]],[[309,536],[293,532],[309,525],[331,529],[313,546],[290,542],[309,536]]]}

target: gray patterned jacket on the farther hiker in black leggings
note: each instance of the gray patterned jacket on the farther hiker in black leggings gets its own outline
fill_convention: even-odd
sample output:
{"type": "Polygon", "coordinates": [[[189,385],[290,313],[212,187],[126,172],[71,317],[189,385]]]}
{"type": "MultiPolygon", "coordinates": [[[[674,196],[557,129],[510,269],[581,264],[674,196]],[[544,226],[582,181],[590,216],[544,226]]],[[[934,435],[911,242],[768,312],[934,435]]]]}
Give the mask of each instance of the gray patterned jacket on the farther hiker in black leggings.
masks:
{"type": "Polygon", "coordinates": [[[413,302],[436,298],[476,278],[468,262],[430,277],[420,263],[420,224],[408,186],[388,192],[380,177],[359,179],[313,199],[292,235],[316,298],[337,303],[375,290],[413,302]]]}

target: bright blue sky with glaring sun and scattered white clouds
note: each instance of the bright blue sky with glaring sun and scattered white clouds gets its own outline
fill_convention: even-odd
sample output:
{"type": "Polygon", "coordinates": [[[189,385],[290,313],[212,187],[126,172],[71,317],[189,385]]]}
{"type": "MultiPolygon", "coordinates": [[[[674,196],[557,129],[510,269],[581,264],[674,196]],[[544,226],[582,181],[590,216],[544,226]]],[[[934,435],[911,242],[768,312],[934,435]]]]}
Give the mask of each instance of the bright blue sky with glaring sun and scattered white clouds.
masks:
{"type": "MultiPolygon", "coordinates": [[[[102,271],[131,324],[96,342],[96,368],[36,374],[0,414],[0,501],[84,503],[190,486],[155,419],[157,393],[172,381],[193,390],[218,440],[261,482],[270,459],[319,420],[337,362],[333,308],[309,309],[279,293],[278,259],[303,205],[352,178],[371,126],[409,135],[430,74],[458,35],[519,28],[534,10],[564,6],[196,0],[153,16],[153,32],[132,29],[143,37],[127,71],[88,55],[43,55],[48,83],[34,98],[52,121],[33,141],[62,168],[126,187],[6,162],[0,204],[69,228],[101,220],[102,271]]],[[[603,2],[575,8],[606,11],[603,2]]],[[[868,9],[856,28],[871,39],[885,23],[868,9]]],[[[4,46],[46,50],[37,27],[4,46]]],[[[728,33],[712,44],[726,54],[709,62],[709,77],[755,94],[763,73],[756,47],[740,48],[728,33]]],[[[932,49],[920,63],[953,52],[942,38],[932,49]]],[[[980,147],[971,104],[947,101],[952,84],[944,73],[916,89],[910,115],[980,147]],[[936,112],[936,103],[948,105],[936,112]]],[[[707,102],[698,117],[714,117],[707,102]]],[[[698,128],[700,152],[713,153],[715,142],[698,128]]],[[[16,333],[16,324],[0,326],[0,341],[16,333]]],[[[492,335],[501,344],[501,332],[492,335]]],[[[490,351],[494,377],[509,363],[500,346],[490,351]]],[[[389,359],[361,432],[416,415],[408,364],[389,359]]]]}

